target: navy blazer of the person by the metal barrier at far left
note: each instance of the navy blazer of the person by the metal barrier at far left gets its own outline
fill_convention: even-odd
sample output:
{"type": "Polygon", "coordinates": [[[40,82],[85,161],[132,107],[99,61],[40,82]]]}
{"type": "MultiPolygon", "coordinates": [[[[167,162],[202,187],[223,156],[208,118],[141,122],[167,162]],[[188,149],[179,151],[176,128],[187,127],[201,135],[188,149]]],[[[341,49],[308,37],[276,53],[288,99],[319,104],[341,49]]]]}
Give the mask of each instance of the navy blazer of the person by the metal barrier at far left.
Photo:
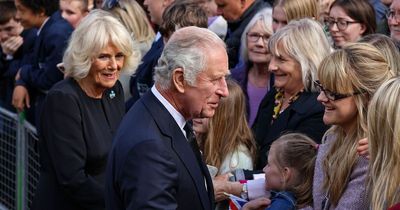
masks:
{"type": "MultiPolygon", "coordinates": [[[[56,65],[62,62],[72,30],[72,26],[61,17],[59,11],[52,14],[36,38],[31,64],[21,67],[21,79],[16,84],[25,85],[37,97],[36,124],[39,124],[45,93],[64,78],[56,65]]],[[[30,97],[33,98],[33,95],[30,97]]]]}

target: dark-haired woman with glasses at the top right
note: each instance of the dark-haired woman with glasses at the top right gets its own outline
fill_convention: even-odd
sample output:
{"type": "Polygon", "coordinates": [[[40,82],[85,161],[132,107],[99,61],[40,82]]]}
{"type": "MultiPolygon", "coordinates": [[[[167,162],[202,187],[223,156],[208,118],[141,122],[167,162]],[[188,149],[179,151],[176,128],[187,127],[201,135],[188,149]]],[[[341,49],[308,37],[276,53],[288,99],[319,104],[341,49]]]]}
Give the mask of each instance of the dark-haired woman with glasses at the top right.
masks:
{"type": "Polygon", "coordinates": [[[375,11],[366,0],[336,0],[325,20],[335,48],[357,42],[376,30],[375,11]]]}

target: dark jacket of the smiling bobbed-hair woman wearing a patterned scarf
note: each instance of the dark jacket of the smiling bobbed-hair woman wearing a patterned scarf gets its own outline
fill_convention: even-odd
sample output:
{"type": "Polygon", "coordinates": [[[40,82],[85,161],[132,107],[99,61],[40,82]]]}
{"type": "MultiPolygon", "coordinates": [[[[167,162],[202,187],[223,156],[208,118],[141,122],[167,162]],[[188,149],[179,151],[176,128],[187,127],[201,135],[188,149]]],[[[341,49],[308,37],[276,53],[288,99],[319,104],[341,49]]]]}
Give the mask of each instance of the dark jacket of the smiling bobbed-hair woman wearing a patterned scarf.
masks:
{"type": "Polygon", "coordinates": [[[311,92],[303,92],[271,125],[275,94],[276,89],[272,89],[265,95],[253,125],[259,147],[256,169],[262,169],[266,165],[267,153],[272,142],[282,134],[299,132],[311,137],[315,142],[321,143],[322,136],[328,129],[328,126],[322,121],[324,107],[317,101],[318,93],[311,92]]]}

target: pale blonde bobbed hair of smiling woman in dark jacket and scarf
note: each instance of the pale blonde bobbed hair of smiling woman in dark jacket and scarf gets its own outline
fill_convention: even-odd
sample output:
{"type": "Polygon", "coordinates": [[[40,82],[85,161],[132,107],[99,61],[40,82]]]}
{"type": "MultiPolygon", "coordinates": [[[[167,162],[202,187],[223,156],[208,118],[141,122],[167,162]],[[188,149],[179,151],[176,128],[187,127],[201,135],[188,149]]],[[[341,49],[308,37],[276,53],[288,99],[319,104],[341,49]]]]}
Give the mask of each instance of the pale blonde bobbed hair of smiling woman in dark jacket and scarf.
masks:
{"type": "Polygon", "coordinates": [[[299,62],[305,90],[317,91],[313,81],[317,80],[318,66],[331,52],[322,26],[317,21],[309,18],[290,21],[272,35],[268,46],[272,55],[279,56],[284,52],[299,62]],[[278,48],[278,44],[282,48],[278,48]]]}

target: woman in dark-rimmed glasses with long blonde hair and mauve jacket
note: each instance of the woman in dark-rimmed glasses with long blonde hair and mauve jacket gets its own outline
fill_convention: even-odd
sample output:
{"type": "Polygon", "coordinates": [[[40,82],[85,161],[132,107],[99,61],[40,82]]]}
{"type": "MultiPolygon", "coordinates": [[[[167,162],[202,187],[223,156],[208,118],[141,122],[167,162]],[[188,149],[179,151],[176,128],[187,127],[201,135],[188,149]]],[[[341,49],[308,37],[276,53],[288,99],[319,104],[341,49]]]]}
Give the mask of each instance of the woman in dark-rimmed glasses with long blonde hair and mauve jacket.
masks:
{"type": "Polygon", "coordinates": [[[349,44],[322,61],[315,83],[324,123],[332,127],[318,151],[314,209],[368,209],[368,160],[356,148],[367,135],[370,98],[394,75],[379,50],[366,43],[349,44]]]}

